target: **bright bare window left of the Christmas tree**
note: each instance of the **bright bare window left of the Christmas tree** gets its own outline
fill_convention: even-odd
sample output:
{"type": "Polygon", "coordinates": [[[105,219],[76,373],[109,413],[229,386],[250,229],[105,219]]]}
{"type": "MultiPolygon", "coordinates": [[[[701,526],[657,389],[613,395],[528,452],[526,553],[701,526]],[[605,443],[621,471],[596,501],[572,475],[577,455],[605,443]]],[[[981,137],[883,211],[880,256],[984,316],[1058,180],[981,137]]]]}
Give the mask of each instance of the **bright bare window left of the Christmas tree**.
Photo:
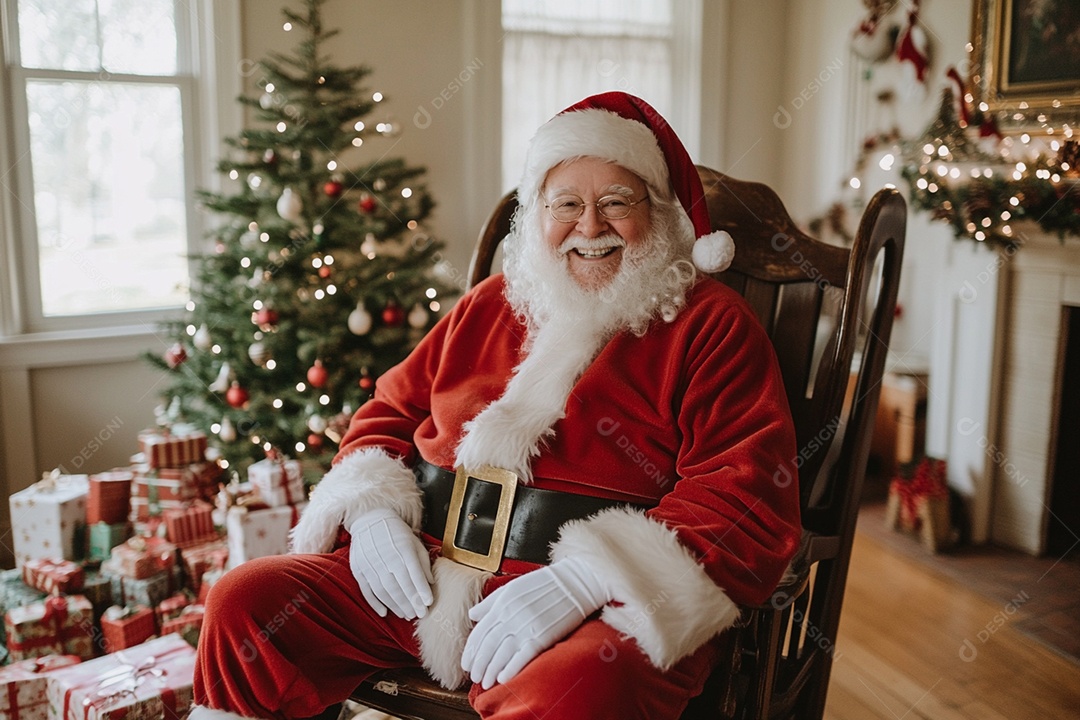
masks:
{"type": "Polygon", "coordinates": [[[199,3],[3,1],[18,329],[181,305],[199,3]]]}

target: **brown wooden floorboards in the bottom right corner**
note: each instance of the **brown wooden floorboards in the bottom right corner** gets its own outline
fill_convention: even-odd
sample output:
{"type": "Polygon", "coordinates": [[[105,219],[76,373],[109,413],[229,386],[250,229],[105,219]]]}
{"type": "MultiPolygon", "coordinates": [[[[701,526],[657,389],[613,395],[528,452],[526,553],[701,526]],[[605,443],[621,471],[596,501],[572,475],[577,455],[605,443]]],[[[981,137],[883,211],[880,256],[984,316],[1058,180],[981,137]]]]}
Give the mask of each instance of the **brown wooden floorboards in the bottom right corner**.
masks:
{"type": "Polygon", "coordinates": [[[825,717],[1080,718],[1080,665],[1012,626],[1015,615],[858,533],[825,717]]]}

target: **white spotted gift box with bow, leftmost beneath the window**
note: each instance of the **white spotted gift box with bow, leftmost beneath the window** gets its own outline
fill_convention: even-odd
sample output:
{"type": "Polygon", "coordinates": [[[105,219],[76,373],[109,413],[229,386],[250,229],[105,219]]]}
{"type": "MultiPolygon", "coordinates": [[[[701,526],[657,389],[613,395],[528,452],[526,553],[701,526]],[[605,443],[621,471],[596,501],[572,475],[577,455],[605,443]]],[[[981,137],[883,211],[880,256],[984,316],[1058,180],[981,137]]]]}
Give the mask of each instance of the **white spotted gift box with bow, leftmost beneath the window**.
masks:
{"type": "Polygon", "coordinates": [[[87,489],[87,476],[53,472],[11,495],[16,563],[22,566],[36,557],[80,559],[87,489]]]}

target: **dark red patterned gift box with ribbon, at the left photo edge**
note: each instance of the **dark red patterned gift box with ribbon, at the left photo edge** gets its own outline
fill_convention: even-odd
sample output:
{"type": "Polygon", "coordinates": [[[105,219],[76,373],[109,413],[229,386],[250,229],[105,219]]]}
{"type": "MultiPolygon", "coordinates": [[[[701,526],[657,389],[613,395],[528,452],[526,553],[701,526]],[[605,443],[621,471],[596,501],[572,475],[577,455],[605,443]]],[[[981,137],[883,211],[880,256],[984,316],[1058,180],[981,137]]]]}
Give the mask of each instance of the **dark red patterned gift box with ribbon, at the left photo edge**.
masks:
{"type": "Polygon", "coordinates": [[[56,596],[4,613],[12,660],[44,655],[94,656],[94,615],[81,595],[56,596]]]}

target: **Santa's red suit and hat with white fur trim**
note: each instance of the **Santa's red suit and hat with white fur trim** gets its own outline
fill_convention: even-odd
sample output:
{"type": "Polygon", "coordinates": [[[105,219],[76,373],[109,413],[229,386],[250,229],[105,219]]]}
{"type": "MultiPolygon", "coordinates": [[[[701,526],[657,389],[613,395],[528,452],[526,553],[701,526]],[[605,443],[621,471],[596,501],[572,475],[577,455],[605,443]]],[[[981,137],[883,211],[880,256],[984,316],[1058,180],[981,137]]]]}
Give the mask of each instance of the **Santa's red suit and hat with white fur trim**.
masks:
{"type": "MultiPolygon", "coordinates": [[[[653,208],[678,202],[687,237],[665,241],[687,242],[686,255],[692,245],[699,268],[730,262],[730,237],[711,231],[685,148],[654,109],[622,93],[586,98],[541,127],[518,187],[523,209],[537,207],[550,168],[582,155],[640,177],[653,208]]],[[[714,664],[711,640],[740,604],[768,597],[800,533],[796,447],[772,345],[743,299],[702,277],[669,298],[671,322],[596,344],[575,338],[572,324],[527,328],[505,289],[502,276],[478,285],[378,380],[294,529],[300,554],[245,562],[214,586],[199,720],[211,707],[313,716],[377,668],[419,664],[448,688],[467,679],[469,609],[538,566],[504,559],[498,573],[476,570],[424,535],[434,600],[407,621],[380,617],[361,596],[348,545],[335,549],[341,528],[373,511],[421,532],[410,467],[421,460],[446,471],[489,464],[531,487],[649,507],[558,529],[552,563],[572,559],[611,600],[516,676],[474,685],[484,718],[676,718],[714,664]]]]}

